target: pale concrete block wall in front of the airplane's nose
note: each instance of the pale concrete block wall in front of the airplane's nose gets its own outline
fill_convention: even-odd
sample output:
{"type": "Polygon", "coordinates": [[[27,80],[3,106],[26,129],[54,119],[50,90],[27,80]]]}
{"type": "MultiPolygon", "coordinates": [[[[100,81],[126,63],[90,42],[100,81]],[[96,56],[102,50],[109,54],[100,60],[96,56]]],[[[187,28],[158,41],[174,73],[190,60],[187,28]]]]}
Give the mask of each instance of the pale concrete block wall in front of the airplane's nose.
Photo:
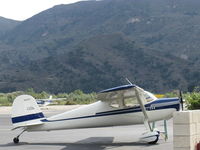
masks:
{"type": "Polygon", "coordinates": [[[173,115],[174,150],[196,150],[200,142],[200,110],[173,115]]]}

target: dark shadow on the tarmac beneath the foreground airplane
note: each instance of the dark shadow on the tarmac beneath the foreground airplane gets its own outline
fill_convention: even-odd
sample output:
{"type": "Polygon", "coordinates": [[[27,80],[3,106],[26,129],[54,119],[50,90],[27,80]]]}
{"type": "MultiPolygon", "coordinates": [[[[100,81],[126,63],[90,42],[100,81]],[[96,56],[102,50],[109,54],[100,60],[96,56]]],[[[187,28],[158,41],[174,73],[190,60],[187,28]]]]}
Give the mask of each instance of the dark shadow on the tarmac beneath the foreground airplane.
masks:
{"type": "Polygon", "coordinates": [[[23,146],[23,145],[32,145],[32,146],[64,146],[60,150],[104,150],[113,147],[121,147],[121,146],[141,146],[141,147],[148,147],[151,146],[146,143],[141,142],[113,142],[114,137],[90,137],[75,143],[27,143],[27,142],[20,142],[19,144],[8,143],[6,145],[1,145],[1,147],[9,147],[9,146],[23,146]]]}

